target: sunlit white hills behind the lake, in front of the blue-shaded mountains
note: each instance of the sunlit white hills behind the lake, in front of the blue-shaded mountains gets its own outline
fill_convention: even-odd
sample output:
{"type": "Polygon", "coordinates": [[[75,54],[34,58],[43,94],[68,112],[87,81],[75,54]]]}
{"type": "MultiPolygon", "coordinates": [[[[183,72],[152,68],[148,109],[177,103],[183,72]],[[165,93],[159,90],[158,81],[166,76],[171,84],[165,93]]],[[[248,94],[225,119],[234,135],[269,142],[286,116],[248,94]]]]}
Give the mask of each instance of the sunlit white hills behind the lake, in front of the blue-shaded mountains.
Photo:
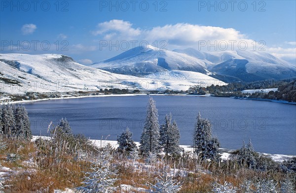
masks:
{"type": "Polygon", "coordinates": [[[212,82],[225,84],[201,73],[181,71],[175,74],[179,75],[171,78],[166,74],[135,77],[78,64],[64,55],[0,54],[0,93],[61,93],[105,88],[187,90],[199,83],[202,86],[212,82]]]}

